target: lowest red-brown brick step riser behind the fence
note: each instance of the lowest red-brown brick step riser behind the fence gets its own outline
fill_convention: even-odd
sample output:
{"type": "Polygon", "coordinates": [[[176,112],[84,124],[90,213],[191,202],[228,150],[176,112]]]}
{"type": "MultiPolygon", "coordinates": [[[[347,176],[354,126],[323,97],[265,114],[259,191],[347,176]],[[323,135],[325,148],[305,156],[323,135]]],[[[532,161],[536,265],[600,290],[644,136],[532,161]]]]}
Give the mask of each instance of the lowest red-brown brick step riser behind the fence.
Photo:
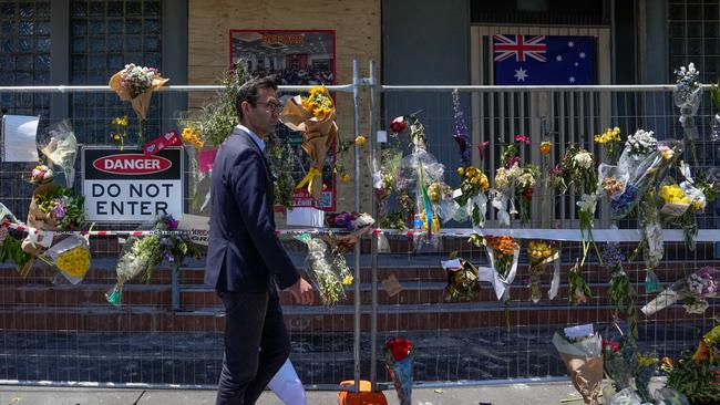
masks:
{"type": "MultiPolygon", "coordinates": [[[[708,309],[704,316],[713,316],[718,308],[708,309]]],[[[354,328],[353,308],[340,305],[284,308],[286,325],[291,332],[351,332],[354,328]]],[[[504,328],[505,308],[500,302],[444,304],[380,305],[378,330],[433,331],[472,328],[504,328]]],[[[579,305],[557,308],[513,302],[508,308],[512,326],[567,325],[575,323],[608,322],[611,308],[607,305],[579,305]]],[[[703,315],[687,314],[682,307],[673,305],[650,320],[638,313],[640,323],[683,319],[702,321],[703,315]]],[[[370,309],[362,310],[361,330],[370,331],[370,309]]],[[[94,331],[94,332],[222,332],[224,318],[219,308],[188,312],[157,310],[153,307],[89,307],[89,308],[0,308],[0,330],[3,331],[94,331]]]]}

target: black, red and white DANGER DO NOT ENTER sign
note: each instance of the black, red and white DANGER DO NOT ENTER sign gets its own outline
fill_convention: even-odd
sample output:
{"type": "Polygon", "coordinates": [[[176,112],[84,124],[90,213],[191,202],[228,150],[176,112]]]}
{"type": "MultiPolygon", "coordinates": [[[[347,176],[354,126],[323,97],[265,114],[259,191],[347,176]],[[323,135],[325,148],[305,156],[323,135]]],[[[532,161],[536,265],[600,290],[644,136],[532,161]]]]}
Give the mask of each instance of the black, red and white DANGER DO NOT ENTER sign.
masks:
{"type": "Polygon", "coordinates": [[[140,148],[86,146],[82,154],[85,218],[144,222],[158,215],[183,216],[183,149],[156,155],[140,148]]]}

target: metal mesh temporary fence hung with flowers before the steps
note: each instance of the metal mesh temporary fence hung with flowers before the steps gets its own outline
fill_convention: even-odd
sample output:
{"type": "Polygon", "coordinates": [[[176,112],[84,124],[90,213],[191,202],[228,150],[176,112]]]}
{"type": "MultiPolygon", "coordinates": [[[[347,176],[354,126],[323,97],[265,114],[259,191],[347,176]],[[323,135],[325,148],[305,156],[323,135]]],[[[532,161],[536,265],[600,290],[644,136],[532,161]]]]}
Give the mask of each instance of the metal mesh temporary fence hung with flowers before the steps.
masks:
{"type": "MultiPolygon", "coordinates": [[[[360,76],[357,62],[353,68],[351,84],[330,89],[336,92],[338,104],[353,106],[354,134],[366,133],[361,108],[368,105],[370,127],[364,129],[371,134],[370,158],[379,156],[384,147],[377,143],[376,134],[387,125],[378,123],[420,111],[429,150],[445,165],[449,184],[459,184],[454,174],[457,145],[451,138],[455,131],[451,97],[454,89],[461,94],[471,131],[473,163],[491,178],[498,166],[501,144],[512,142],[517,134],[531,136],[532,143],[523,147],[522,157],[534,163],[539,162],[537,147],[544,139],[554,143],[552,162],[562,158],[569,142],[599,154],[592,135],[616,125],[624,135],[638,127],[656,131],[660,139],[681,134],[677,108],[671,102],[672,86],[383,86],[376,82],[372,63],[369,77],[360,76]],[[363,87],[369,90],[368,104],[362,103],[363,87]],[[490,146],[481,159],[477,146],[483,142],[490,146]]],[[[287,92],[305,89],[281,87],[287,92]]],[[[177,104],[175,97],[210,96],[216,90],[218,86],[162,89],[163,103],[153,115],[156,117],[153,125],[160,127],[161,122],[171,122],[177,115],[175,111],[164,110],[167,100],[172,101],[168,104],[177,104]]],[[[0,87],[0,94],[6,93],[60,93],[68,95],[71,105],[75,97],[82,97],[82,103],[78,101],[83,105],[79,110],[82,114],[75,116],[75,110],[71,110],[70,118],[75,127],[82,128],[80,135],[85,138],[81,142],[85,144],[104,143],[107,116],[128,111],[127,106],[119,105],[106,86],[0,87]],[[95,113],[89,110],[88,100],[92,100],[95,113]]],[[[708,100],[703,102],[704,106],[709,105],[708,100]]],[[[13,113],[12,105],[9,113],[13,113]]],[[[718,155],[717,145],[704,141],[710,115],[707,108],[700,112],[701,131],[696,142],[699,166],[706,169],[717,165],[718,155]]],[[[356,179],[368,175],[358,152],[356,146],[356,179]]],[[[19,217],[27,212],[31,194],[31,187],[19,180],[27,169],[25,165],[2,163],[2,202],[19,217]]],[[[353,191],[353,208],[359,211],[363,208],[359,181],[353,191]]],[[[551,344],[553,332],[584,322],[594,322],[604,330],[611,321],[611,307],[606,298],[608,272],[597,266],[593,255],[583,273],[594,297],[583,305],[567,303],[570,292],[565,272],[582,252],[575,199],[573,195],[553,196],[546,209],[541,209],[541,202],[534,199],[529,222],[514,221],[510,229],[498,229],[494,210],[488,209],[488,222],[482,230],[485,235],[510,232],[521,240],[538,238],[558,243],[563,267],[558,297],[552,301],[544,298],[537,304],[529,302],[524,253],[507,305],[494,297],[486,283],[474,300],[454,302],[444,298],[446,278],[440,260],[448,259],[451,251],[457,251],[476,266],[488,266],[484,250],[465,242],[471,232],[466,224],[445,224],[438,243],[423,245],[420,249],[415,249],[413,232],[378,229],[370,241],[358,243],[353,253],[348,255],[356,282],[347,291],[348,298],[337,307],[300,307],[289,295],[281,295],[294,346],[291,360],[300,378],[310,388],[332,390],[338,390],[337,383],[343,380],[369,377],[372,383],[387,382],[382,347],[387,339],[395,336],[413,342],[414,380],[425,385],[565,376],[564,364],[551,344]],[[381,239],[388,240],[390,252],[379,249],[381,239]]],[[[377,217],[374,204],[371,206],[377,217]]],[[[713,209],[708,207],[707,214],[700,217],[702,229],[695,251],[685,248],[681,231],[665,231],[666,257],[656,270],[664,285],[716,262],[713,242],[720,238],[713,209]]],[[[598,243],[615,240],[630,252],[640,239],[634,220],[620,222],[619,230],[608,229],[607,210],[599,210],[596,224],[598,243]]],[[[13,269],[2,269],[2,383],[214,386],[223,353],[222,304],[214,291],[202,284],[202,261],[191,262],[177,272],[160,269],[150,284],[128,284],[122,307],[106,303],[103,294],[114,283],[117,239],[131,230],[127,226],[103,225],[104,235],[92,235],[92,271],[79,285],[63,284],[61,279],[53,279],[53,271],[41,266],[27,279],[17,276],[13,269]]],[[[302,266],[305,247],[291,238],[297,231],[280,233],[294,260],[302,266]]],[[[640,307],[654,297],[644,288],[645,264],[638,258],[628,261],[625,270],[638,289],[636,302],[640,307]]],[[[543,276],[544,292],[551,273],[548,270],[543,276]]],[[[658,355],[677,355],[717,323],[718,315],[714,304],[702,315],[688,316],[680,305],[649,319],[639,315],[639,342],[658,355]]]]}

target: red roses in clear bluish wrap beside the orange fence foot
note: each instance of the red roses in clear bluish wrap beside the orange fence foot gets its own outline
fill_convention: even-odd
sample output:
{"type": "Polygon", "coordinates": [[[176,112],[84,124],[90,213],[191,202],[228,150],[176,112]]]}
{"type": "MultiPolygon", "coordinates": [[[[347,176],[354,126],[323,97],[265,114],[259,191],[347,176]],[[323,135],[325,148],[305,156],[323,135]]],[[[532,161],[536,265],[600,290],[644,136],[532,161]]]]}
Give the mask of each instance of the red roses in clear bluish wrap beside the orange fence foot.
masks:
{"type": "Polygon", "coordinates": [[[385,367],[398,393],[400,405],[412,404],[412,343],[405,339],[391,339],[383,350],[385,367]]]}

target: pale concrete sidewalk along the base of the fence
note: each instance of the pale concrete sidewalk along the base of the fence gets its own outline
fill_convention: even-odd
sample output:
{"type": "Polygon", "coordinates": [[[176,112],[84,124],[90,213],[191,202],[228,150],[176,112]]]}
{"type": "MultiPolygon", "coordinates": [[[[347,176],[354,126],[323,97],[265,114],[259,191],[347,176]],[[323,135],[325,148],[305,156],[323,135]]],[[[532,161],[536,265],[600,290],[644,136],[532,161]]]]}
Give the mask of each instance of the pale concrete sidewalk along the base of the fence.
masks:
{"type": "MultiPolygon", "coordinates": [[[[394,391],[385,391],[389,405],[398,405],[394,391]]],[[[335,392],[309,391],[310,405],[337,405],[335,392]]],[[[451,386],[413,390],[413,405],[533,405],[560,404],[560,399],[577,398],[569,404],[583,404],[579,394],[568,382],[539,384],[511,384],[487,386],[451,386]]],[[[213,405],[212,391],[154,391],[84,387],[0,386],[0,405],[213,405]]],[[[266,392],[257,405],[282,405],[266,392]]]]}

